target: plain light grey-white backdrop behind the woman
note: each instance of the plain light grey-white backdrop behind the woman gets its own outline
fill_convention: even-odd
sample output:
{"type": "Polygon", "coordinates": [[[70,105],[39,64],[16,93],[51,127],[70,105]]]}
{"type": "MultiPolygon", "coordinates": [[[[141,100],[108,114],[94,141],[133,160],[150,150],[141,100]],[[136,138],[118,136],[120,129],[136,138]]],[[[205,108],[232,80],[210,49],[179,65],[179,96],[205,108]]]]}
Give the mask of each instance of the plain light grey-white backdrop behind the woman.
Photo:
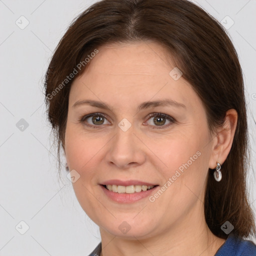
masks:
{"type": "MultiPolygon", "coordinates": [[[[1,256],[86,256],[100,242],[98,227],[77,202],[64,168],[58,178],[43,97],[43,75],[54,48],[72,19],[93,2],[0,0],[1,256]]],[[[196,3],[228,27],[239,55],[252,147],[248,190],[255,212],[256,1],[196,3]]]]}

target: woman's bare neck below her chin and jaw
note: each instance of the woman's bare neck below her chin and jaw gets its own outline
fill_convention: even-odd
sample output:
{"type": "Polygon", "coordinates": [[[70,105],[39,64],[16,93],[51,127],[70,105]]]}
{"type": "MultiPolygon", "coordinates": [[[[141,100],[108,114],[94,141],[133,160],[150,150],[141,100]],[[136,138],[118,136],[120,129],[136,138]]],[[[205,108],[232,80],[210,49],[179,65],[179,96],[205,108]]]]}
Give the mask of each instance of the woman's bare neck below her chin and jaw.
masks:
{"type": "MultiPolygon", "coordinates": [[[[198,213],[198,212],[197,212],[198,213]]],[[[187,214],[161,233],[150,237],[120,237],[100,228],[102,256],[178,255],[213,256],[224,243],[208,228],[204,216],[187,214]]]]}

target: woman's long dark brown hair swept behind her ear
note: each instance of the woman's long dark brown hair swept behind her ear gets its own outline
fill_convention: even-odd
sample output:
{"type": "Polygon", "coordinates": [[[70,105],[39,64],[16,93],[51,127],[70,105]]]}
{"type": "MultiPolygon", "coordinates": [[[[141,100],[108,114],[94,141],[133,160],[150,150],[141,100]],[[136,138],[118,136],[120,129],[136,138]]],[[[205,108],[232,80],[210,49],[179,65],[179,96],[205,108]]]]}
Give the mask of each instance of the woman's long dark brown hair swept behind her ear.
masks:
{"type": "Polygon", "coordinates": [[[255,235],[246,191],[248,137],[241,67],[218,21],[189,1],[102,0],[72,21],[54,51],[44,84],[59,166],[68,95],[74,79],[65,80],[67,75],[74,69],[81,74],[87,66],[84,59],[100,45],[141,40],[154,40],[166,46],[175,65],[182,70],[182,77],[202,100],[210,131],[223,124],[228,109],[237,111],[232,147],[222,164],[222,180],[216,182],[213,175],[207,177],[204,214],[211,232],[218,237],[227,237],[220,228],[227,220],[234,226],[233,234],[255,235]],[[79,63],[83,65],[77,68],[79,63]]]}

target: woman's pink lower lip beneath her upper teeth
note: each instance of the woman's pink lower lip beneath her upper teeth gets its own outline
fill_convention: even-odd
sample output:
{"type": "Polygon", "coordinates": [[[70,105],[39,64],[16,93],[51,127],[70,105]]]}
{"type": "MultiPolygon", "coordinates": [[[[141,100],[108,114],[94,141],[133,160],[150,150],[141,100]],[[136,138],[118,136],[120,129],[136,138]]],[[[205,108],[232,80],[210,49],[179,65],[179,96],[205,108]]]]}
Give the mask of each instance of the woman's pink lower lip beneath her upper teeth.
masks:
{"type": "Polygon", "coordinates": [[[142,198],[149,196],[151,193],[153,193],[155,191],[155,189],[158,186],[155,186],[146,191],[134,192],[134,193],[130,193],[130,194],[129,193],[113,192],[113,191],[106,189],[103,185],[100,185],[100,187],[102,188],[102,190],[106,194],[106,196],[109,197],[110,199],[112,199],[113,201],[131,203],[131,202],[135,202],[135,201],[138,201],[142,198]]]}

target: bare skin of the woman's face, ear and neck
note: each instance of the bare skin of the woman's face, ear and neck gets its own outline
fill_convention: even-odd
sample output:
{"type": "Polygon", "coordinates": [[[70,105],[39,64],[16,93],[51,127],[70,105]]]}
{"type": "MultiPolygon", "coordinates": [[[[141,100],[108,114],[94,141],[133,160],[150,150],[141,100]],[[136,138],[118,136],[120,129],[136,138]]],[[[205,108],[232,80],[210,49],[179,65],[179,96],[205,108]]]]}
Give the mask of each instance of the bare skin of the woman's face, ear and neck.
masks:
{"type": "Polygon", "coordinates": [[[236,111],[228,110],[224,126],[211,134],[200,98],[182,76],[174,80],[169,75],[174,65],[160,44],[113,43],[98,50],[72,83],[64,150],[69,170],[80,175],[72,183],[76,197],[99,225],[102,254],[187,256],[189,251],[189,255],[214,255],[225,240],[213,235],[206,225],[205,180],[208,168],[226,159],[236,111]],[[84,99],[103,101],[111,109],[89,104],[73,107],[84,99]],[[175,100],[185,107],[164,105],[137,111],[141,102],[161,99],[175,100]],[[148,116],[159,112],[175,121],[163,118],[158,124],[154,120],[157,115],[148,116]],[[106,119],[79,121],[90,113],[104,114],[106,119]],[[131,124],[126,131],[118,126],[123,118],[131,124]],[[197,151],[200,156],[153,202],[146,197],[118,203],[99,185],[108,179],[138,179],[161,186],[197,151]],[[118,228],[123,221],[130,226],[125,234],[118,228]]]}

